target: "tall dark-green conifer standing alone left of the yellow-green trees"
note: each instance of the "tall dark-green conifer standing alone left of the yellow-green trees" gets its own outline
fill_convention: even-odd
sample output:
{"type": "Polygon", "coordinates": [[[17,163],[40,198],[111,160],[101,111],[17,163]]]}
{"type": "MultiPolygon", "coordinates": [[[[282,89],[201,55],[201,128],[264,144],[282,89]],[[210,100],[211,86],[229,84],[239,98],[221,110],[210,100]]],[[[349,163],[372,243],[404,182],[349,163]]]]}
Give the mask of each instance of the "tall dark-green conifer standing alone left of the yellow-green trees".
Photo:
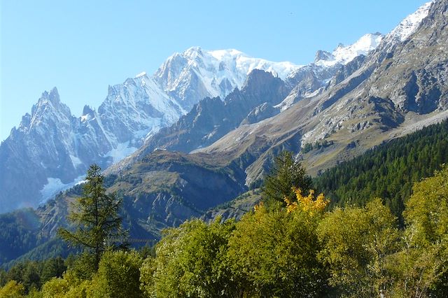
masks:
{"type": "Polygon", "coordinates": [[[104,176],[97,164],[87,170],[83,196],[71,204],[68,221],[74,231],[59,228],[58,234],[72,246],[83,248],[85,253],[94,256],[94,269],[98,269],[99,260],[106,248],[117,249],[127,245],[126,232],[118,211],[122,204],[114,194],[106,194],[104,176]]]}

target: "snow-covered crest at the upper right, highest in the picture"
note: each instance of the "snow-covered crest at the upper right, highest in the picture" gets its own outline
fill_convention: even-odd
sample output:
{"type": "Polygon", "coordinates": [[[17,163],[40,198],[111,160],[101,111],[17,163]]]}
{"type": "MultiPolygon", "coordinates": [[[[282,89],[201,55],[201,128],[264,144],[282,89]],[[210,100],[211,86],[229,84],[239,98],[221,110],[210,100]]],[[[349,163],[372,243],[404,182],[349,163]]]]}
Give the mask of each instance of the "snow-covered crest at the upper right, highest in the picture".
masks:
{"type": "Polygon", "coordinates": [[[412,13],[405,17],[404,20],[398,24],[395,29],[393,29],[389,34],[386,35],[386,40],[399,40],[405,41],[414,31],[419,27],[421,21],[428,15],[430,6],[434,3],[433,1],[429,1],[419,9],[416,10],[415,13],[412,13]]]}

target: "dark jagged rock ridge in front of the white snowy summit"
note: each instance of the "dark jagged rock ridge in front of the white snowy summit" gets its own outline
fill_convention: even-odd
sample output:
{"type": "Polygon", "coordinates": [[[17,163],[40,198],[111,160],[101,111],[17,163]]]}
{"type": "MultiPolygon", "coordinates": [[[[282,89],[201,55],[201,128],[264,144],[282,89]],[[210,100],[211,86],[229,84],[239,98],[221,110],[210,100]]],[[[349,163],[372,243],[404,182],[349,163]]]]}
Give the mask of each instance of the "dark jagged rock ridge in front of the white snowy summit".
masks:
{"type": "Polygon", "coordinates": [[[162,129],[148,139],[144,152],[151,152],[155,148],[190,152],[209,146],[237,128],[248,113],[260,104],[279,104],[288,91],[280,78],[274,78],[265,71],[254,70],[241,91],[233,91],[224,101],[218,97],[200,101],[175,125],[162,129]]]}

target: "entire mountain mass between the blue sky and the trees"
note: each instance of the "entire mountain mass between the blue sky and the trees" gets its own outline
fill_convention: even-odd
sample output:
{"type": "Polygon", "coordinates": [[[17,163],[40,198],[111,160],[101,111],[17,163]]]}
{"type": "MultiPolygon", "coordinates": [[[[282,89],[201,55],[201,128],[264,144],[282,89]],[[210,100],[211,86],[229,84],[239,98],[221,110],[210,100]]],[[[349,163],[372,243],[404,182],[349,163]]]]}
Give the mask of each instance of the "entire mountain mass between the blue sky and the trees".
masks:
{"type": "Polygon", "coordinates": [[[20,255],[66,225],[69,201],[92,163],[105,169],[108,192],[123,197],[132,238],[156,241],[162,229],[193,217],[241,217],[239,208],[259,201],[253,189],[284,150],[319,176],[442,122],[447,11],[447,0],[429,2],[389,34],[318,51],[304,66],[190,48],[153,76],[110,86],[103,104],[85,106],[79,118],[56,89],[44,92],[0,146],[0,212],[44,203],[24,211],[36,245],[20,255]],[[241,194],[248,201],[232,201],[241,194]]]}

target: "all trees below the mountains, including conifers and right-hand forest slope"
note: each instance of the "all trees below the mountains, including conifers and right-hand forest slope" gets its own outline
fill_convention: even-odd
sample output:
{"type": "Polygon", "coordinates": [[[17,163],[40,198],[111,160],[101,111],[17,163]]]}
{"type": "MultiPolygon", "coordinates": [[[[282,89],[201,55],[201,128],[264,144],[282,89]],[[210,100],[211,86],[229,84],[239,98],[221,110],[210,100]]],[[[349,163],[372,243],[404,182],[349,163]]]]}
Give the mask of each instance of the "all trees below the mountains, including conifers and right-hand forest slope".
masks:
{"type": "MultiPolygon", "coordinates": [[[[122,202],[90,171],[75,228],[59,231],[82,253],[0,269],[0,297],[447,297],[447,140],[445,121],[312,181],[283,152],[241,220],[188,220],[139,250],[126,243],[122,202]]],[[[22,249],[34,226],[18,212],[21,226],[1,220],[22,249]]]]}

